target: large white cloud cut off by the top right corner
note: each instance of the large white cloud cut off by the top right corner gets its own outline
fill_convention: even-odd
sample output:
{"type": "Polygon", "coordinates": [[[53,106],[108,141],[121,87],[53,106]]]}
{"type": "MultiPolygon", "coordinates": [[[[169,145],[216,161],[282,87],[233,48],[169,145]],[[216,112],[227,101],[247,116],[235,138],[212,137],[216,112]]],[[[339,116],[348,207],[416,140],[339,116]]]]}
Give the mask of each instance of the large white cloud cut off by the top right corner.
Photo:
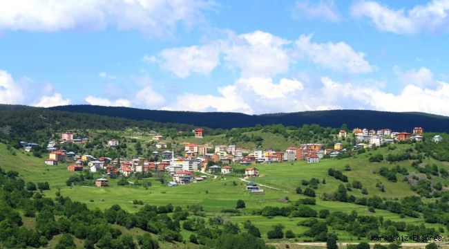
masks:
{"type": "Polygon", "coordinates": [[[359,1],[351,6],[353,17],[368,17],[376,28],[397,34],[413,34],[426,30],[430,33],[449,31],[449,0],[433,0],[414,6],[411,10],[393,10],[376,1],[359,1]]]}

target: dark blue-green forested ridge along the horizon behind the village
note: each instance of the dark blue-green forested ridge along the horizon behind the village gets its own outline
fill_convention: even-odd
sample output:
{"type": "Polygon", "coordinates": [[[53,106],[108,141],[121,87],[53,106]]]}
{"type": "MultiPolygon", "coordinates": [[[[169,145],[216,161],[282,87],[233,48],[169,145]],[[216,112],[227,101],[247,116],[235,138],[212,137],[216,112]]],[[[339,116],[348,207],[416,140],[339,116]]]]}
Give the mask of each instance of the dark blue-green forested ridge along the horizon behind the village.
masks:
{"type": "Polygon", "coordinates": [[[93,113],[102,116],[120,117],[131,120],[151,120],[193,124],[213,129],[232,129],[234,127],[254,127],[256,124],[283,124],[301,127],[303,124],[319,124],[322,127],[367,127],[369,129],[390,128],[394,131],[411,131],[423,127],[426,131],[448,132],[449,117],[428,113],[394,113],[365,110],[304,111],[297,113],[276,113],[265,115],[246,115],[243,113],[155,111],[128,107],[100,107],[92,105],[69,105],[52,107],[51,110],[77,113],[93,113]]]}

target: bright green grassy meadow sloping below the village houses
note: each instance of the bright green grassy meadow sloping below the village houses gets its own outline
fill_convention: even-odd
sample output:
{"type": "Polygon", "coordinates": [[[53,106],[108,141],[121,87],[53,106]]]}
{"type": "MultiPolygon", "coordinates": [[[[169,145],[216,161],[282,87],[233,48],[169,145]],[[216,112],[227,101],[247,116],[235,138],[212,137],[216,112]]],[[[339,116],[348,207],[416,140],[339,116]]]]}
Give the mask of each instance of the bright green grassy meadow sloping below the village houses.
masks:
{"type": "MultiPolygon", "coordinates": [[[[401,145],[397,151],[404,149],[407,145],[401,145]]],[[[258,165],[260,171],[260,177],[253,178],[251,181],[276,187],[279,190],[269,189],[264,187],[264,194],[249,194],[245,190],[246,183],[240,180],[240,176],[225,175],[218,176],[217,178],[209,177],[206,181],[200,183],[191,183],[190,185],[181,185],[178,187],[168,187],[166,184],[162,185],[160,182],[150,178],[152,186],[145,190],[142,186],[118,186],[117,180],[110,180],[110,187],[82,187],[73,186],[68,187],[66,185],[66,179],[71,174],[77,174],[68,172],[66,170],[66,164],[60,164],[58,166],[45,165],[44,158],[35,158],[28,155],[28,153],[14,150],[16,156],[13,156],[10,151],[6,149],[6,145],[0,144],[0,164],[3,169],[15,170],[19,172],[20,176],[26,181],[33,181],[35,183],[48,181],[51,189],[44,191],[46,196],[55,196],[57,192],[56,186],[61,187],[61,194],[63,196],[69,196],[73,201],[80,201],[86,203],[89,208],[99,208],[104,210],[110,208],[113,204],[118,204],[128,212],[137,212],[140,205],[133,205],[133,200],[143,201],[144,204],[149,205],[166,205],[171,203],[173,206],[187,207],[187,205],[199,204],[202,205],[207,212],[207,216],[212,216],[220,210],[227,208],[235,208],[236,201],[239,199],[245,201],[246,207],[242,210],[240,216],[231,216],[231,220],[240,223],[240,229],[242,223],[250,220],[256,225],[262,233],[262,239],[267,239],[267,232],[271,230],[271,226],[277,223],[285,225],[285,230],[292,230],[296,234],[300,234],[307,230],[307,228],[296,225],[298,221],[303,218],[288,218],[275,216],[272,219],[268,219],[263,216],[251,215],[251,211],[264,208],[265,206],[285,206],[289,203],[283,203],[279,199],[288,197],[291,201],[304,198],[303,195],[298,195],[295,192],[296,187],[303,187],[301,185],[302,180],[310,180],[310,178],[318,178],[320,181],[325,179],[326,184],[320,183],[316,190],[317,197],[323,193],[335,192],[341,181],[327,175],[327,169],[341,169],[345,165],[350,165],[351,171],[345,171],[343,174],[347,175],[349,182],[354,180],[361,181],[363,187],[366,187],[369,196],[377,195],[381,198],[394,199],[401,198],[403,196],[416,195],[410,190],[408,183],[401,181],[399,178],[397,183],[391,183],[386,178],[379,174],[374,174],[379,170],[379,167],[387,166],[392,167],[386,163],[368,163],[367,153],[359,155],[357,158],[346,159],[323,159],[317,164],[307,164],[306,162],[294,162],[294,163],[273,163],[267,165],[258,165]],[[385,192],[380,192],[375,184],[377,182],[385,185],[385,192]]],[[[379,148],[377,151],[371,151],[372,154],[382,153],[385,154],[385,148],[379,148]]],[[[394,152],[394,151],[393,151],[394,152]]],[[[436,163],[439,167],[449,169],[448,163],[434,162],[433,160],[426,159],[425,163],[436,163]]],[[[408,169],[410,174],[417,173],[416,169],[410,167],[410,162],[398,163],[408,169]]],[[[243,168],[240,165],[235,165],[236,168],[243,168]]],[[[98,174],[97,177],[100,177],[98,174]]],[[[130,181],[133,181],[130,179],[130,181]]],[[[435,178],[434,181],[441,181],[443,185],[448,185],[449,181],[443,178],[435,178]]],[[[362,196],[360,190],[352,189],[354,196],[362,196]]],[[[391,219],[392,221],[405,221],[407,223],[423,223],[423,219],[414,219],[406,217],[401,219],[399,214],[393,214],[385,210],[376,210],[375,213],[367,212],[365,206],[355,205],[351,203],[340,203],[332,201],[322,201],[320,198],[316,198],[316,205],[311,206],[314,210],[328,209],[329,211],[344,211],[351,212],[356,210],[359,214],[363,215],[376,215],[383,216],[384,220],[391,219]]],[[[29,221],[32,222],[32,221],[29,221]]],[[[426,227],[438,228],[439,225],[426,224],[426,227]]],[[[331,228],[332,229],[332,228],[331,228]]],[[[139,229],[128,230],[126,232],[139,232],[139,229]]],[[[143,232],[140,230],[140,232],[143,232]]],[[[340,241],[355,241],[354,235],[347,232],[337,230],[340,241]]],[[[189,236],[189,232],[182,231],[184,237],[189,236]]],[[[404,233],[405,234],[405,233],[404,233]]],[[[301,238],[303,239],[303,238],[301,238]]],[[[366,238],[361,238],[362,241],[366,241],[366,238]]]]}

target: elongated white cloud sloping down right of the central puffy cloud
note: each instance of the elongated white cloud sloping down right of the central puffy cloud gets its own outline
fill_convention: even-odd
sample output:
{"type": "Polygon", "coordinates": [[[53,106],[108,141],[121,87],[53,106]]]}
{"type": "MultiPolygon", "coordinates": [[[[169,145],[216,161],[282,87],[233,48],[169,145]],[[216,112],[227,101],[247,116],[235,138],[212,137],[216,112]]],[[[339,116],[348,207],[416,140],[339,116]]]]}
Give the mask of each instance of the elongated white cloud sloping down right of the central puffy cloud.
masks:
{"type": "Polygon", "coordinates": [[[356,52],[344,42],[316,44],[310,42],[313,35],[301,35],[296,40],[296,56],[304,56],[325,68],[349,73],[371,73],[376,66],[365,61],[365,53],[356,52]]]}

